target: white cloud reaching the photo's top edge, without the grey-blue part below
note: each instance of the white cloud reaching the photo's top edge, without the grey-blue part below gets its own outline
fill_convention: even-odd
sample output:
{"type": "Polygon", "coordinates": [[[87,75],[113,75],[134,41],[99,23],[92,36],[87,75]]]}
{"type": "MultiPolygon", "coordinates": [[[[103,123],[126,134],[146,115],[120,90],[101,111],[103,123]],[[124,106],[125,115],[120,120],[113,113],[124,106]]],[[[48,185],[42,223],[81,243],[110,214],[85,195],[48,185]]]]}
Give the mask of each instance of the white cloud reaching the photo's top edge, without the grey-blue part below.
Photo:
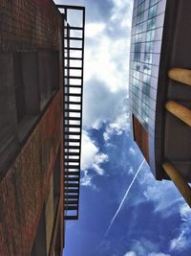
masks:
{"type": "Polygon", "coordinates": [[[86,41],[84,79],[90,81],[98,78],[113,92],[127,89],[128,86],[130,52],[128,28],[131,28],[132,17],[131,12],[127,12],[128,7],[131,6],[130,1],[124,2],[126,3],[118,4],[114,1],[113,15],[107,24],[103,22],[87,24],[87,36],[91,39],[86,41]],[[120,35],[118,35],[118,24],[123,27],[120,35]]]}

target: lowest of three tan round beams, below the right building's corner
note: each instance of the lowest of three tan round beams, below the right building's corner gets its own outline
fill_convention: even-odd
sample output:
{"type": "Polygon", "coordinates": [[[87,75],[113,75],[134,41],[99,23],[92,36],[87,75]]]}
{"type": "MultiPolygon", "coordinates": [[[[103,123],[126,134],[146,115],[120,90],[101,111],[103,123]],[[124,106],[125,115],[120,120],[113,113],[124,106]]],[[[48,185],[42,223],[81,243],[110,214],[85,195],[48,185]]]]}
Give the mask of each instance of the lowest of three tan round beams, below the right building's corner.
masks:
{"type": "Polygon", "coordinates": [[[188,203],[191,208],[191,188],[184,180],[184,178],[180,175],[180,173],[174,168],[174,166],[170,163],[163,163],[162,167],[167,175],[172,179],[175,183],[176,187],[180,191],[180,194],[188,203]]]}

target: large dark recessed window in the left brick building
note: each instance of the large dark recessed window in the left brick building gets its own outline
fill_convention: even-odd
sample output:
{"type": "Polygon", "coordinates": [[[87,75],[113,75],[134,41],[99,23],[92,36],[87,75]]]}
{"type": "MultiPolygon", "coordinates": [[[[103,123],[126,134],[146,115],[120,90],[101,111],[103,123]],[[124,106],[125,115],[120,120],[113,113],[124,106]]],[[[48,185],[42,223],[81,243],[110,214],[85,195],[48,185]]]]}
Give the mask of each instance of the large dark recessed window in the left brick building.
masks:
{"type": "Polygon", "coordinates": [[[58,57],[58,52],[50,51],[13,54],[15,108],[20,141],[59,89],[58,57]]]}

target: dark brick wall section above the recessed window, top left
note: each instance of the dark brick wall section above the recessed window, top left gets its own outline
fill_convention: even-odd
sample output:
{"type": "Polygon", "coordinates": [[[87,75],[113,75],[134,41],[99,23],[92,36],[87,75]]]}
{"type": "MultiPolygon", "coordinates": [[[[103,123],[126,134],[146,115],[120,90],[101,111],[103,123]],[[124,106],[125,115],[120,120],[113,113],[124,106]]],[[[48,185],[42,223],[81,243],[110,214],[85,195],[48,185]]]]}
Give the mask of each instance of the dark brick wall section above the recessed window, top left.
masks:
{"type": "Polygon", "coordinates": [[[1,0],[0,51],[58,50],[58,13],[51,0],[1,0]]]}

